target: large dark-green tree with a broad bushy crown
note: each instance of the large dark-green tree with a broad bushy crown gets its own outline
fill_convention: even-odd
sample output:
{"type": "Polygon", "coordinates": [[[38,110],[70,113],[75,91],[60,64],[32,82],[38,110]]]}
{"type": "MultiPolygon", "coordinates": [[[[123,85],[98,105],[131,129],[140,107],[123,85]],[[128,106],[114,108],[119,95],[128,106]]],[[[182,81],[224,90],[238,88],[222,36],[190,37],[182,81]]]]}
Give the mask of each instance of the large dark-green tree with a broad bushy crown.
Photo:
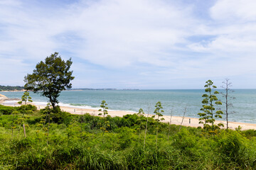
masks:
{"type": "Polygon", "coordinates": [[[33,74],[27,74],[24,88],[46,96],[54,109],[55,104],[58,104],[60,92],[72,87],[70,81],[75,77],[72,76],[73,71],[69,71],[71,64],[71,58],[65,62],[58,57],[58,52],[55,52],[46,57],[45,62],[36,64],[33,74]]]}

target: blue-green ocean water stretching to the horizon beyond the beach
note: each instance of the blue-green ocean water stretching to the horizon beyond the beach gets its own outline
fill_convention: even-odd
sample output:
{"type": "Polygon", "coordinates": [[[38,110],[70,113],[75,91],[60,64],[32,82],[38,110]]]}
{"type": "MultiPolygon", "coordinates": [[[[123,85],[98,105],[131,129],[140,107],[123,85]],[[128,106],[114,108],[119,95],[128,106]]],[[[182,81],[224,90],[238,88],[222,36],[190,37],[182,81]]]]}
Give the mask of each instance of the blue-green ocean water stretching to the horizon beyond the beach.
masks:
{"type": "MultiPolygon", "coordinates": [[[[218,89],[220,92],[221,90],[218,89]]],[[[1,92],[9,98],[21,98],[23,92],[1,92]]],[[[30,93],[34,103],[47,103],[48,98],[39,94],[30,93]]],[[[186,108],[186,117],[199,118],[197,113],[202,106],[201,97],[203,89],[196,90],[83,90],[63,91],[58,98],[60,106],[76,108],[100,108],[100,103],[105,100],[109,110],[137,112],[139,108],[153,114],[157,101],[161,101],[164,115],[182,116],[186,108]]],[[[231,102],[229,121],[242,123],[256,123],[256,89],[235,89],[230,96],[235,97],[231,102]]],[[[224,100],[221,94],[217,96],[224,100]]],[[[224,106],[218,106],[224,110],[224,106]]],[[[225,120],[225,115],[223,115],[225,120]]]]}

